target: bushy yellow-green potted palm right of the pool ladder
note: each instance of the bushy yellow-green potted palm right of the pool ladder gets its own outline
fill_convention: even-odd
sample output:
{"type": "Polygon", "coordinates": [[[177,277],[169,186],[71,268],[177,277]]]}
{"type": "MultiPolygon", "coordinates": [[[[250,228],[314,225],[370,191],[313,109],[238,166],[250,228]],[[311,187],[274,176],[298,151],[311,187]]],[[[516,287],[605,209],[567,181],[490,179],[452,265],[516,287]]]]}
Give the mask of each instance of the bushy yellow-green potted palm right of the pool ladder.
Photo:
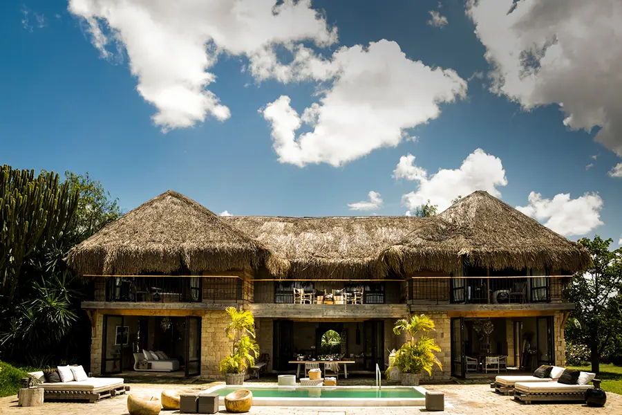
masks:
{"type": "Polygon", "coordinates": [[[404,332],[409,339],[395,352],[395,359],[386,369],[388,380],[390,380],[390,370],[397,367],[401,374],[402,385],[417,386],[422,371],[428,372],[428,375],[431,376],[434,365],[442,369],[440,360],[434,354],[435,351],[441,351],[441,349],[434,339],[423,334],[415,340],[418,333],[428,333],[432,330],[434,330],[434,322],[424,314],[413,315],[410,320],[402,319],[395,322],[393,333],[399,335],[404,332]]]}

